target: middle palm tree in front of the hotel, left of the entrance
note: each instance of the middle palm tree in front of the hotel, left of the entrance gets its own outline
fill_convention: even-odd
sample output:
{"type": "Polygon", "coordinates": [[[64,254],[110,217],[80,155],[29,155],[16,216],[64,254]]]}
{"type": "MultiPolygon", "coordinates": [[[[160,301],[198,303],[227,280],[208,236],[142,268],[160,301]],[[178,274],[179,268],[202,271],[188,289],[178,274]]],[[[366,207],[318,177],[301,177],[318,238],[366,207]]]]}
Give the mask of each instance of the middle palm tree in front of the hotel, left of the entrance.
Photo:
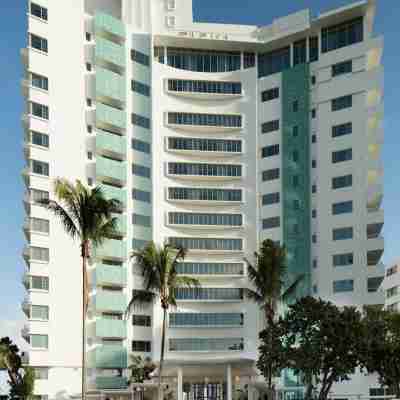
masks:
{"type": "Polygon", "coordinates": [[[176,249],[168,244],[157,247],[153,242],[148,243],[141,251],[134,252],[136,260],[144,278],[144,290],[135,291],[127,308],[127,315],[135,304],[153,303],[160,300],[163,310],[161,331],[161,352],[158,369],[158,396],[162,400],[162,369],[165,353],[165,333],[167,314],[170,307],[176,307],[176,290],[180,287],[197,287],[199,281],[188,276],[178,274],[177,266],[185,258],[186,251],[176,249]]]}

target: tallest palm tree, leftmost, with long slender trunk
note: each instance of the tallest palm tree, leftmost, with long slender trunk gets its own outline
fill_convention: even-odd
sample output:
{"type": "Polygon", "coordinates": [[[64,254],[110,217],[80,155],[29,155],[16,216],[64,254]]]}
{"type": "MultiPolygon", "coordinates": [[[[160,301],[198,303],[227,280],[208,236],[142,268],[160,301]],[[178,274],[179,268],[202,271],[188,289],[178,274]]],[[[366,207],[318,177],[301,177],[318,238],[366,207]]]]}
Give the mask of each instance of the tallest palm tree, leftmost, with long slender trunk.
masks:
{"type": "Polygon", "coordinates": [[[79,240],[82,257],[82,399],[86,398],[86,313],[89,305],[87,261],[90,247],[101,245],[116,234],[117,219],[112,212],[120,208],[118,200],[107,200],[101,187],[85,187],[79,180],[76,184],[66,179],[54,183],[56,200],[43,203],[64,227],[72,239],[79,240]]]}

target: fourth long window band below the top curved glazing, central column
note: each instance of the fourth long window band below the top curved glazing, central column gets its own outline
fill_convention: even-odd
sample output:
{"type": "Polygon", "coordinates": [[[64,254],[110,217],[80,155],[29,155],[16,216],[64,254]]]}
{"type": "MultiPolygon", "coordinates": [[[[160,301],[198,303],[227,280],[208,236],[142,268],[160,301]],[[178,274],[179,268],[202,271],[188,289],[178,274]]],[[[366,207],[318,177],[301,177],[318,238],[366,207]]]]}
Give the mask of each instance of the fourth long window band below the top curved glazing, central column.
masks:
{"type": "Polygon", "coordinates": [[[171,175],[241,177],[242,166],[230,164],[190,164],[170,162],[168,163],[168,173],[171,175]]]}

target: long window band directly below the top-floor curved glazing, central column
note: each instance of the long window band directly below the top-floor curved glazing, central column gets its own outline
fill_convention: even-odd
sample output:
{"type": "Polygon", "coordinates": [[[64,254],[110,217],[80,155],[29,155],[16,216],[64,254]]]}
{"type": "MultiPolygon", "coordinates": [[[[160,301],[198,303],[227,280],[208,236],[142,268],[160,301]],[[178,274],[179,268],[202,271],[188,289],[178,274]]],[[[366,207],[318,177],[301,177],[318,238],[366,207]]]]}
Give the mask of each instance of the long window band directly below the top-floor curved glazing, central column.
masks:
{"type": "Polygon", "coordinates": [[[169,79],[168,90],[187,93],[241,94],[242,83],[169,79]]]}

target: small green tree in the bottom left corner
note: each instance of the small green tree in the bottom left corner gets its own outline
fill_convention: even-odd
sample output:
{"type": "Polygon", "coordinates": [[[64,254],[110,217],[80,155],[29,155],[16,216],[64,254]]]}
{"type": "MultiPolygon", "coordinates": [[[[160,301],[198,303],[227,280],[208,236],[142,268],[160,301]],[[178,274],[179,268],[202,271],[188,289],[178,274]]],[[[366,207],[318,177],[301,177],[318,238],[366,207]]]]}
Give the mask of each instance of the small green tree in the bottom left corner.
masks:
{"type": "Polygon", "coordinates": [[[8,337],[0,339],[0,370],[7,371],[11,399],[25,400],[33,395],[34,370],[22,365],[18,346],[8,337]]]}

